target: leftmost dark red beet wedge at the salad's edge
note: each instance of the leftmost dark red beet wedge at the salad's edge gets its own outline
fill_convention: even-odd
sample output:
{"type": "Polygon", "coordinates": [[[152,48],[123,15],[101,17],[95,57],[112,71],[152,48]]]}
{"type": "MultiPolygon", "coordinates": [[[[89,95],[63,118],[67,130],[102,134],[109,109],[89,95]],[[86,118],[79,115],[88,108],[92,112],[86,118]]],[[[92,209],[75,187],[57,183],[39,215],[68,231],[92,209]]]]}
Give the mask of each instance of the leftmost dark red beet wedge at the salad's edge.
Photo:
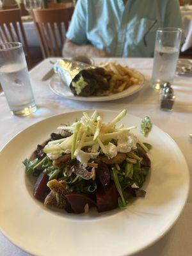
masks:
{"type": "Polygon", "coordinates": [[[33,195],[38,200],[43,200],[49,194],[50,189],[47,187],[47,182],[49,181],[49,176],[47,173],[42,172],[35,183],[35,189],[33,195]]]}

